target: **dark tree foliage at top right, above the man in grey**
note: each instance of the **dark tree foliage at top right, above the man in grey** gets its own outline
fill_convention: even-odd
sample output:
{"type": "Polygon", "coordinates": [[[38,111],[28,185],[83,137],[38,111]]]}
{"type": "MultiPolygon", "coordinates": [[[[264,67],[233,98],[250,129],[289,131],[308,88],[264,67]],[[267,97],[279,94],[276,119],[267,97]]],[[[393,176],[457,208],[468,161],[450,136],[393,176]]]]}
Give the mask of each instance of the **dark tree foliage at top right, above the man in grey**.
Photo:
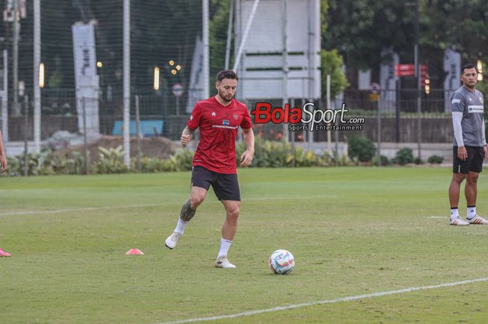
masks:
{"type": "MultiPolygon", "coordinates": [[[[446,48],[466,62],[488,61],[488,2],[483,0],[419,0],[420,63],[429,65],[434,86],[441,87],[446,48]]],[[[376,68],[381,51],[392,49],[402,63],[413,63],[414,1],[329,0],[326,49],[338,49],[356,69],[376,68]]],[[[383,58],[388,59],[388,58],[383,58]]]]}

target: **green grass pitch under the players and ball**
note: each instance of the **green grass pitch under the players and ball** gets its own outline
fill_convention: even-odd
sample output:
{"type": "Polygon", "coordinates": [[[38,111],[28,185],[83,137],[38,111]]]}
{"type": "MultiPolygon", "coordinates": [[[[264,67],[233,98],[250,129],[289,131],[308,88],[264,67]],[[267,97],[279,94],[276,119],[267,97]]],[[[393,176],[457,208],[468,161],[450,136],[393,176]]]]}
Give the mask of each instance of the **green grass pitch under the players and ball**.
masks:
{"type": "MultiPolygon", "coordinates": [[[[217,269],[213,192],[178,247],[164,246],[188,172],[0,178],[12,253],[0,258],[0,323],[167,323],[488,277],[488,226],[448,225],[448,168],[241,169],[239,181],[238,268],[217,269]],[[271,274],[275,249],[295,256],[291,274],[271,274]]],[[[482,173],[481,215],[487,199],[482,173]]],[[[484,281],[207,323],[487,323],[487,300],[484,281]]]]}

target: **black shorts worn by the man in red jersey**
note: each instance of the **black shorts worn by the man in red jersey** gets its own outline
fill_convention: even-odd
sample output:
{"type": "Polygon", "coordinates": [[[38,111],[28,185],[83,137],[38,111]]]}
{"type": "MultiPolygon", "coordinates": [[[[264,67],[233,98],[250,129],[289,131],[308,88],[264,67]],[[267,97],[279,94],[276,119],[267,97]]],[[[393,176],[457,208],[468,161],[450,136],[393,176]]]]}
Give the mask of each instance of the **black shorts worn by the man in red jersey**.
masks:
{"type": "Polygon", "coordinates": [[[219,200],[241,201],[236,173],[218,173],[197,165],[192,171],[192,186],[194,185],[206,190],[212,185],[213,192],[219,200]]]}

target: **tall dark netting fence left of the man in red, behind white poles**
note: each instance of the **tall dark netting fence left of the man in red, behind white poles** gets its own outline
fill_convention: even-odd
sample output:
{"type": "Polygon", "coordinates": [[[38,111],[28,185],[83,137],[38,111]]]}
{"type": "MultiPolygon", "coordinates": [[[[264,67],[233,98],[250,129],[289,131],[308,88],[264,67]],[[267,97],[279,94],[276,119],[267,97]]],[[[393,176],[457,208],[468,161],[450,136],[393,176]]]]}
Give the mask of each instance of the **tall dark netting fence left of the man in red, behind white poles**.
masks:
{"type": "MultiPolygon", "coordinates": [[[[15,0],[3,1],[5,13],[13,13],[15,0]]],[[[6,64],[1,64],[2,98],[8,98],[8,141],[24,140],[24,97],[28,102],[29,141],[33,140],[33,2],[19,1],[26,15],[0,24],[0,49],[6,49],[6,64]],[[18,63],[15,64],[15,52],[18,63]],[[3,82],[3,75],[8,75],[3,82]],[[20,93],[18,80],[24,88],[20,93]],[[17,104],[15,104],[17,102],[17,104]]],[[[144,125],[160,121],[148,136],[175,138],[174,121],[186,118],[192,91],[192,68],[197,45],[201,43],[201,1],[130,1],[130,114],[135,119],[135,98],[144,125]],[[155,69],[158,69],[158,84],[155,69]],[[174,86],[182,91],[173,91],[174,86]],[[176,95],[175,95],[176,93],[176,95]],[[183,117],[185,116],[185,117],[183,117]],[[161,126],[159,126],[161,125],[161,126]]],[[[4,17],[6,17],[4,15],[4,17]]],[[[10,17],[10,16],[8,16],[10,17]]],[[[123,1],[40,1],[40,62],[43,63],[43,88],[40,91],[41,140],[58,130],[83,133],[81,104],[86,104],[88,121],[96,123],[101,135],[119,135],[123,119],[123,1]],[[93,31],[80,33],[77,26],[93,31]],[[77,56],[77,46],[82,47],[77,56]],[[93,61],[93,72],[90,72],[93,61]],[[81,64],[81,65],[80,65],[81,64]],[[80,73],[77,68],[81,66],[80,73]],[[91,78],[86,81],[86,78],[91,78]],[[88,82],[88,86],[86,83],[88,82]],[[85,87],[86,91],[82,89],[85,87]],[[81,90],[80,90],[81,89],[81,90]],[[97,116],[93,116],[97,114],[97,116]]],[[[1,51],[0,51],[1,52],[1,51]]],[[[0,60],[2,61],[2,60],[0,60]]],[[[3,63],[3,61],[2,61],[3,63]]],[[[4,118],[3,115],[0,115],[4,118]]],[[[89,123],[90,124],[90,123],[89,123]]],[[[1,127],[1,124],[0,124],[1,127]]],[[[144,128],[145,130],[145,128],[144,128]]]]}

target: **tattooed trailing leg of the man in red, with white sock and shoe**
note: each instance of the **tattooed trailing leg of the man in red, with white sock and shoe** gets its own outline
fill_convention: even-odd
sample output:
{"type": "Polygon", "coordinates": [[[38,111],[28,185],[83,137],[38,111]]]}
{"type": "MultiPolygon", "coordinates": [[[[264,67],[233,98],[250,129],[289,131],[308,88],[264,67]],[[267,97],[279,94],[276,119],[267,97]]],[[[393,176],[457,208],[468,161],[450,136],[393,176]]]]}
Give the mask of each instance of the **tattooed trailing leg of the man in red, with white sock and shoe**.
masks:
{"type": "Polygon", "coordinates": [[[183,233],[185,232],[185,227],[190,222],[190,219],[195,216],[197,212],[197,207],[204,202],[207,190],[201,187],[192,186],[192,193],[190,194],[190,199],[183,203],[181,206],[180,217],[178,218],[178,224],[174,232],[168,236],[165,240],[165,245],[169,249],[174,249],[178,240],[181,239],[183,233]]]}

